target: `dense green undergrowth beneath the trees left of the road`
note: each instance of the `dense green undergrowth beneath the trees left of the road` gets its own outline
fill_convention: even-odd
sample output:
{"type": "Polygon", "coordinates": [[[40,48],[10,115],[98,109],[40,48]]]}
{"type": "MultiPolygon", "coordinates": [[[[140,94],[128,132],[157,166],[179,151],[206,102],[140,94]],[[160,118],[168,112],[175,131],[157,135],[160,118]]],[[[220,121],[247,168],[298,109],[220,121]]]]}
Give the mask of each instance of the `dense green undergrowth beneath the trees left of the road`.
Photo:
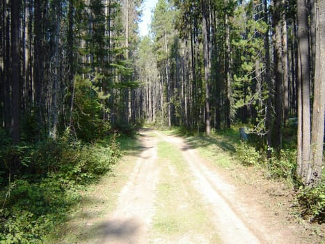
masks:
{"type": "Polygon", "coordinates": [[[80,190],[109,171],[121,154],[115,138],[93,144],[65,137],[0,143],[0,243],[42,243],[80,201],[80,190]],[[8,165],[17,159],[13,177],[8,165]]]}

